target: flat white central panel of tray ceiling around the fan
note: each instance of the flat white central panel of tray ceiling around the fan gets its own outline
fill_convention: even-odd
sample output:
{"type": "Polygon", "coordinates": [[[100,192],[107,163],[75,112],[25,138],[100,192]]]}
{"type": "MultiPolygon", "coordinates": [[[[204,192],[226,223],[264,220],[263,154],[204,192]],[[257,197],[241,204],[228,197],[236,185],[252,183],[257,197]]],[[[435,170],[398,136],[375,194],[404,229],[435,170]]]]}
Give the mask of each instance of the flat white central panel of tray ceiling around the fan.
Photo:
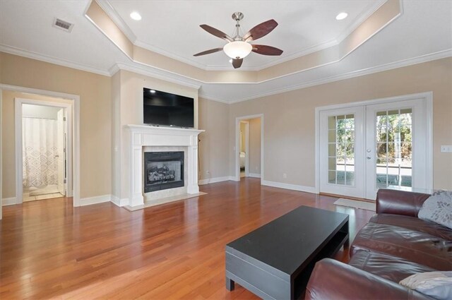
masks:
{"type": "Polygon", "coordinates": [[[268,44],[283,49],[282,56],[252,53],[242,70],[259,70],[288,59],[317,51],[340,42],[365,20],[383,0],[367,1],[100,1],[109,16],[141,47],[209,70],[232,69],[223,52],[194,57],[198,52],[222,47],[225,41],[199,27],[207,24],[234,36],[235,11],[244,13],[240,21],[246,33],[266,20],[274,19],[278,27],[254,44],[268,44]],[[109,10],[108,7],[112,7],[109,10]],[[139,21],[130,13],[141,14],[139,21]],[[345,20],[336,20],[346,11],[345,20]],[[169,38],[170,37],[170,38],[169,38]]]}

